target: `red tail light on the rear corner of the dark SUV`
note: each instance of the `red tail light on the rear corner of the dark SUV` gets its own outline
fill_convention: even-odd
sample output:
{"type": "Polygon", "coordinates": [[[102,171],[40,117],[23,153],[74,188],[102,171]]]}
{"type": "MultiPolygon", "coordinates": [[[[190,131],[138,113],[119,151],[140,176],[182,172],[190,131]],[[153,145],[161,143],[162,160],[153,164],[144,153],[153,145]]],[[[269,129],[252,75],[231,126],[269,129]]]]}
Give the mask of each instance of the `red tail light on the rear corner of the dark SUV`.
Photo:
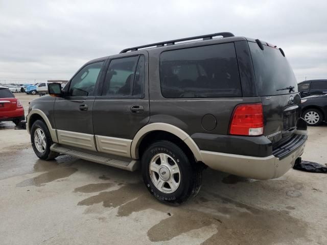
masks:
{"type": "Polygon", "coordinates": [[[232,115],[229,133],[235,135],[262,135],[264,115],[262,104],[238,105],[232,115]]]}

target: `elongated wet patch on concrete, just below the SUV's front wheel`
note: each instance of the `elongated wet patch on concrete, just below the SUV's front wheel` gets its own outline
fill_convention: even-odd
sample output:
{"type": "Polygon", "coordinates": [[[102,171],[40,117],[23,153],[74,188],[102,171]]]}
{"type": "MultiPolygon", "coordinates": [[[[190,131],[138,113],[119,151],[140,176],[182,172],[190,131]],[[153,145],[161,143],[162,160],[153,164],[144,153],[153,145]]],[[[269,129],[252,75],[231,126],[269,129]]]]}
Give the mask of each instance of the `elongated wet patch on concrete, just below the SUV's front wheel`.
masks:
{"type": "Polygon", "coordinates": [[[75,167],[60,167],[50,170],[48,173],[43,173],[34,178],[22,181],[16,185],[16,187],[23,186],[41,186],[42,184],[49,183],[58,179],[66,178],[71,176],[77,171],[75,167]]]}

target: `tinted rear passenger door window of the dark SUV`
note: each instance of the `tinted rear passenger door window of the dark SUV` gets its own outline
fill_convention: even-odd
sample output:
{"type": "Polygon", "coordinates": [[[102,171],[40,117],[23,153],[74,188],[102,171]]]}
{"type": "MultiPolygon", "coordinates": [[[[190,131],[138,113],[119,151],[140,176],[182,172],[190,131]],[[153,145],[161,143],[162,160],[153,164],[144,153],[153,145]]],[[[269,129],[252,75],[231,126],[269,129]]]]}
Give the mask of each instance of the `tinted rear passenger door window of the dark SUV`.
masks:
{"type": "Polygon", "coordinates": [[[141,95],[143,84],[144,56],[114,59],[109,64],[102,95],[141,95]]]}

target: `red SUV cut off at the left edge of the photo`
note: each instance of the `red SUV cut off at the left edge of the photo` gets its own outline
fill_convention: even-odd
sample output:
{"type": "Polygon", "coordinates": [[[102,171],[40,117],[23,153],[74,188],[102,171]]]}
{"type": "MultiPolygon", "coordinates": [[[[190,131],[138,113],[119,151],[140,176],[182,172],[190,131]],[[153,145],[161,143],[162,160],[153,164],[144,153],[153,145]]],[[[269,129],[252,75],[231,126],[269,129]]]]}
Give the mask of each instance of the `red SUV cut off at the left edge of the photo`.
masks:
{"type": "Polygon", "coordinates": [[[0,86],[0,121],[13,121],[18,125],[24,119],[24,108],[20,101],[8,88],[0,86]]]}

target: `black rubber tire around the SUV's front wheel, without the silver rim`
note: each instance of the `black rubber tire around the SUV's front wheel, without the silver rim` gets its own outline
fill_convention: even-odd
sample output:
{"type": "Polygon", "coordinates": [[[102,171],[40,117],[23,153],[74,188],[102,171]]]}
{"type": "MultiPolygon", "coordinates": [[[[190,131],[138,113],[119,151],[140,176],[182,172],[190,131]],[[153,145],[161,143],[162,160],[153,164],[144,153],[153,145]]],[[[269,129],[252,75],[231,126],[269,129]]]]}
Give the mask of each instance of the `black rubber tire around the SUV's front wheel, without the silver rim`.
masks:
{"type": "Polygon", "coordinates": [[[50,135],[48,127],[46,127],[45,123],[42,120],[36,120],[34,122],[34,124],[32,125],[32,127],[31,127],[31,142],[32,142],[33,150],[38,158],[43,159],[43,160],[52,160],[59,156],[59,153],[53,152],[50,150],[50,146],[53,144],[53,141],[51,139],[51,135],[50,135]],[[37,129],[40,129],[44,133],[44,136],[45,136],[46,144],[45,144],[45,148],[44,148],[43,152],[40,152],[37,149],[37,146],[35,145],[35,142],[34,142],[34,134],[37,129]]]}

